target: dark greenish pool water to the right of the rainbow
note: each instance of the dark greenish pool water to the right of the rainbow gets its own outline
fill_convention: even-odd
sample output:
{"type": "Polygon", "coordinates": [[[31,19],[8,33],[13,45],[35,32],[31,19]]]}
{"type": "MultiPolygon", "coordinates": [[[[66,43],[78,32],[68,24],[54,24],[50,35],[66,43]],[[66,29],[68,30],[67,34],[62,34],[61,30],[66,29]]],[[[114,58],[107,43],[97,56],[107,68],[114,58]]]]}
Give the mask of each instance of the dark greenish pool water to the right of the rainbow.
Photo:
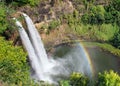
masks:
{"type": "Polygon", "coordinates": [[[105,70],[120,73],[120,58],[98,47],[86,47],[93,64],[95,75],[105,70]]]}

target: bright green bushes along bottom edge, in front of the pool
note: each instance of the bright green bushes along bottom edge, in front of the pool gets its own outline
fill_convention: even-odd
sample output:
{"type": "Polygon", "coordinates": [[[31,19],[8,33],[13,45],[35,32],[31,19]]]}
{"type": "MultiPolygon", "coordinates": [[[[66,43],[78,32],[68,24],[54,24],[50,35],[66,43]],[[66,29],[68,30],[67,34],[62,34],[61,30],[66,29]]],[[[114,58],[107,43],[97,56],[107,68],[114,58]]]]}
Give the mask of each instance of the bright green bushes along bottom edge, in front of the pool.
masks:
{"type": "Polygon", "coordinates": [[[92,83],[79,73],[73,73],[68,80],[62,80],[60,86],[120,86],[120,76],[114,71],[99,73],[98,78],[92,83]]]}

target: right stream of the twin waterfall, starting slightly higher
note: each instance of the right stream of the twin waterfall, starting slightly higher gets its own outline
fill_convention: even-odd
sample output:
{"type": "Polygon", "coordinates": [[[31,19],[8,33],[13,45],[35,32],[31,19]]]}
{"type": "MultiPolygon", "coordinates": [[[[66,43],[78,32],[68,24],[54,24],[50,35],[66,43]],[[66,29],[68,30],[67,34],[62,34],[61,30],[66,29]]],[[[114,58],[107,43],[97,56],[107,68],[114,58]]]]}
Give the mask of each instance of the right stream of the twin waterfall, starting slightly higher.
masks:
{"type": "Polygon", "coordinates": [[[40,37],[37,29],[35,28],[32,20],[30,19],[30,17],[24,13],[23,13],[23,16],[25,18],[25,21],[26,21],[26,24],[28,27],[29,36],[30,36],[31,42],[33,44],[33,47],[35,49],[35,53],[38,56],[39,61],[41,62],[41,65],[44,70],[44,68],[47,68],[49,62],[48,62],[46,51],[44,49],[44,45],[41,41],[41,37],[40,37]]]}

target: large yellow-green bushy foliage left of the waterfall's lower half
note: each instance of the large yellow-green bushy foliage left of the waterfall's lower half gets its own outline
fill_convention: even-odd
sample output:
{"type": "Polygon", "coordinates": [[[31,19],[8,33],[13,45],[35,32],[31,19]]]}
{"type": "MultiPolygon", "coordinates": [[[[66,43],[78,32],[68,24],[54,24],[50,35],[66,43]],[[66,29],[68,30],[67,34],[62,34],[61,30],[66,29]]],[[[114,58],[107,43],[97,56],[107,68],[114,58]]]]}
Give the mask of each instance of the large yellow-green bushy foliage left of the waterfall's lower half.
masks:
{"type": "Polygon", "coordinates": [[[27,83],[30,77],[26,55],[21,47],[14,47],[11,42],[0,37],[0,80],[15,84],[27,83]]]}

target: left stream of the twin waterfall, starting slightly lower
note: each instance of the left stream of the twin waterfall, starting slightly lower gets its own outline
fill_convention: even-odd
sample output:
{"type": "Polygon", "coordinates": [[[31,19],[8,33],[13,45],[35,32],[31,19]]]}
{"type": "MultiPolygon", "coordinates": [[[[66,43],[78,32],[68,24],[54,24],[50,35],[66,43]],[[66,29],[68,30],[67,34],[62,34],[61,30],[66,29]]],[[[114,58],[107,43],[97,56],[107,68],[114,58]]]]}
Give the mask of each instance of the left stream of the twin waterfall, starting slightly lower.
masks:
{"type": "Polygon", "coordinates": [[[21,23],[19,21],[17,21],[17,19],[15,19],[15,18],[14,18],[14,20],[16,21],[16,25],[18,26],[18,31],[19,31],[22,43],[28,52],[31,66],[34,69],[37,78],[42,79],[43,78],[42,68],[41,68],[41,65],[37,59],[36,53],[35,53],[34,48],[30,42],[30,39],[29,39],[27,33],[25,32],[25,29],[22,27],[21,23]]]}

